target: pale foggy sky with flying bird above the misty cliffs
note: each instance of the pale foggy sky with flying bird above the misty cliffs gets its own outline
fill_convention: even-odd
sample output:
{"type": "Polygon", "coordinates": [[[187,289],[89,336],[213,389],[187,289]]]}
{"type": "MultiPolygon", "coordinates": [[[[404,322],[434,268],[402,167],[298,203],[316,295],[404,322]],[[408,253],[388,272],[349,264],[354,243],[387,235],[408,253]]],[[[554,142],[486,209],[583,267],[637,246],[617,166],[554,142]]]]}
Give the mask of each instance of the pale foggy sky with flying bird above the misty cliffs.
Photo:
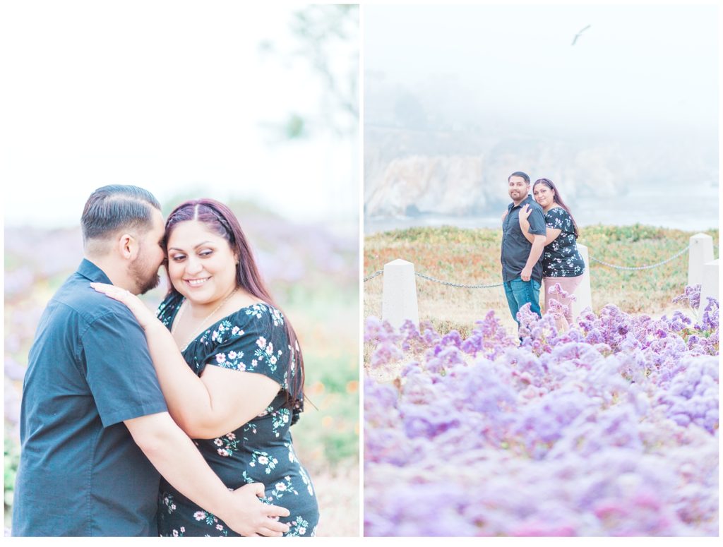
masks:
{"type": "Polygon", "coordinates": [[[714,131],[717,9],[372,5],[364,10],[364,69],[421,93],[447,77],[459,108],[533,122],[714,131]]]}

